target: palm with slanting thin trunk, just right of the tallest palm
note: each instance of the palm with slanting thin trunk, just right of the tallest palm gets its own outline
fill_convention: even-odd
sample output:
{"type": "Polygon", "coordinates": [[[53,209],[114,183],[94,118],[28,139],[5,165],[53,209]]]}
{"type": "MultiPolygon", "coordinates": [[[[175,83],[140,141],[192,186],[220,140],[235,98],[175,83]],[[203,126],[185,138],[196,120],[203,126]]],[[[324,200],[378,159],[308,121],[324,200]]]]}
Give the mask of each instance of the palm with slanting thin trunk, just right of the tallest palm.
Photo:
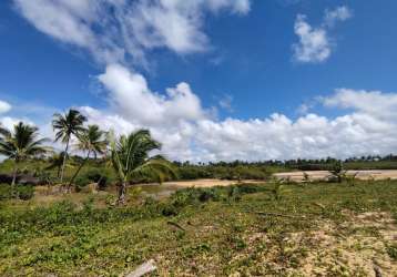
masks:
{"type": "Polygon", "coordinates": [[[84,161],[81,163],[73,177],[69,182],[69,187],[73,183],[74,178],[78,176],[81,168],[84,166],[86,161],[90,158],[91,154],[94,154],[96,158],[98,154],[104,154],[108,141],[106,132],[100,130],[98,125],[89,125],[85,131],[78,135],[79,143],[75,145],[79,151],[86,152],[84,161]]]}

